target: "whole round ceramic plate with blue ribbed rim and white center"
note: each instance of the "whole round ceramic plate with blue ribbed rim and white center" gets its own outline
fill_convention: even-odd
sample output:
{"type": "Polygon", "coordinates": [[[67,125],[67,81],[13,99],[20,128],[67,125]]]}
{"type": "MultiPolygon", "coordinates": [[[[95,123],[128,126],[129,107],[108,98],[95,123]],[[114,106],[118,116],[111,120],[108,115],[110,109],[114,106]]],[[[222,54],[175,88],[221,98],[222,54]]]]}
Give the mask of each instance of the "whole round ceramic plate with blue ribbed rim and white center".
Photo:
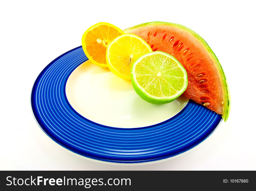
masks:
{"type": "Polygon", "coordinates": [[[90,63],[81,46],[43,69],[31,107],[52,140],[81,156],[114,163],[177,156],[205,140],[222,120],[183,96],[164,105],[147,103],[130,81],[90,63]]]}

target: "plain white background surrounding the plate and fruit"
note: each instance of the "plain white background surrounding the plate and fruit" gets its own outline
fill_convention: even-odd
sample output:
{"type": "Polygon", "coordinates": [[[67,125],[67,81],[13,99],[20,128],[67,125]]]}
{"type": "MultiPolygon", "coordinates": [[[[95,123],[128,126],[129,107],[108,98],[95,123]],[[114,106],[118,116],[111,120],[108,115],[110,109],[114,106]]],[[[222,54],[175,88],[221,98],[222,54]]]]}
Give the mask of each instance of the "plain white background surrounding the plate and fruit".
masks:
{"type": "Polygon", "coordinates": [[[255,5],[253,1],[1,1],[0,169],[256,170],[255,5]],[[97,22],[121,29],[165,21],[191,28],[218,57],[230,86],[231,112],[207,140],[177,158],[118,166],[61,149],[30,108],[33,83],[59,55],[81,45],[97,22]]]}

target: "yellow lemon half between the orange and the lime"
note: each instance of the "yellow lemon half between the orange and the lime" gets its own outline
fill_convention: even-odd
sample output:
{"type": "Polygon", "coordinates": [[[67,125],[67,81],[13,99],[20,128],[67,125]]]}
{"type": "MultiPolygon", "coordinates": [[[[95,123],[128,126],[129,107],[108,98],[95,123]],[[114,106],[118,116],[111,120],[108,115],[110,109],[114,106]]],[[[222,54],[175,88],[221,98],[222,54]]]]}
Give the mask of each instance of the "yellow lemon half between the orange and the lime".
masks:
{"type": "Polygon", "coordinates": [[[149,52],[152,49],[145,40],[134,34],[123,34],[107,46],[106,63],[115,75],[130,80],[132,63],[149,52]]]}

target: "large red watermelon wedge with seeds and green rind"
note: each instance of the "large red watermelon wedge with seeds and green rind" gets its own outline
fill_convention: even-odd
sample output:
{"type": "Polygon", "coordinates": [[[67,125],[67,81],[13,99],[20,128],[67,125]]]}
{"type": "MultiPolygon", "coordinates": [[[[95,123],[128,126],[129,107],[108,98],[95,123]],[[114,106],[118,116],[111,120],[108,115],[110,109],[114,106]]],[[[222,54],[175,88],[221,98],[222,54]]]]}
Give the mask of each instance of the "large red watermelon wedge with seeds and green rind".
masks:
{"type": "Polygon", "coordinates": [[[227,120],[230,96],[225,74],[211,48],[197,33],[185,26],[167,22],[144,23],[124,32],[140,36],[153,51],[169,53],[179,60],[189,80],[183,95],[227,120]]]}

